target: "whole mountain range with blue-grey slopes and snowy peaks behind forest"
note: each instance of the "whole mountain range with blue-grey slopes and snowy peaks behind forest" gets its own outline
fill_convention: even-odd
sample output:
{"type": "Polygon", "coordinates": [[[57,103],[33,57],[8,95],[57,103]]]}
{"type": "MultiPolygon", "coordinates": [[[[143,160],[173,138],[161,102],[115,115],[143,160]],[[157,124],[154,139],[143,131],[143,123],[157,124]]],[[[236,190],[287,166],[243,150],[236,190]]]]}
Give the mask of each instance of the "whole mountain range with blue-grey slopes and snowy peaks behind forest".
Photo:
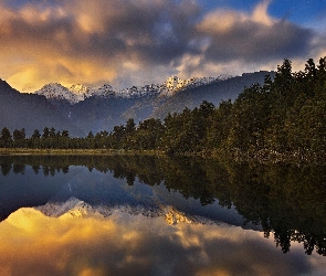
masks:
{"type": "Polygon", "coordinates": [[[133,86],[115,91],[109,84],[87,87],[81,84],[64,87],[46,84],[34,93],[20,93],[0,79],[0,129],[24,128],[27,135],[44,127],[67,129],[71,136],[86,136],[90,131],[111,131],[114,126],[134,118],[164,119],[169,113],[192,109],[203,100],[218,106],[232,99],[246,86],[263,84],[265,75],[274,72],[244,73],[241,76],[190,78],[169,77],[164,84],[133,86]]]}

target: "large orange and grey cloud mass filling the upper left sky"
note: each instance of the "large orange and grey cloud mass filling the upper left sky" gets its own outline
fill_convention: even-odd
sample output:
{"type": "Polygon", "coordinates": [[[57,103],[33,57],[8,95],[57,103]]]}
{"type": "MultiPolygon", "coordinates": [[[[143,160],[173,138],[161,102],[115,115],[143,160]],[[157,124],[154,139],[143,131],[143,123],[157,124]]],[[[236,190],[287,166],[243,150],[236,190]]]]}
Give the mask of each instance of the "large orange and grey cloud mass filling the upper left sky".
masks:
{"type": "Polygon", "coordinates": [[[188,51],[192,17],[198,13],[194,2],[171,0],[0,8],[0,55],[11,66],[7,71],[2,65],[1,74],[14,83],[21,77],[24,86],[46,79],[45,72],[49,81],[94,83],[113,81],[120,71],[133,72],[126,64],[135,64],[134,71],[168,65],[188,51]]]}

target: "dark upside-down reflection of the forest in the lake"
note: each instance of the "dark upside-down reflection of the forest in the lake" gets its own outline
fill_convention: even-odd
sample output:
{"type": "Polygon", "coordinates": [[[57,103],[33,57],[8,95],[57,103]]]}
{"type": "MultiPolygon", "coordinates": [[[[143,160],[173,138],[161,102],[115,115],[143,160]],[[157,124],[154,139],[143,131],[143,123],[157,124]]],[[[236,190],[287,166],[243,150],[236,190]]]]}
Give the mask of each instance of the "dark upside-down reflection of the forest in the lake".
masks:
{"type": "Polygon", "coordinates": [[[112,172],[129,185],[164,183],[168,190],[202,205],[218,200],[235,206],[248,222],[274,234],[283,253],[302,242],[306,254],[326,256],[326,168],[292,164],[221,163],[215,159],[146,156],[2,156],[2,174],[24,173],[27,166],[46,177],[67,173],[71,166],[112,172]]]}

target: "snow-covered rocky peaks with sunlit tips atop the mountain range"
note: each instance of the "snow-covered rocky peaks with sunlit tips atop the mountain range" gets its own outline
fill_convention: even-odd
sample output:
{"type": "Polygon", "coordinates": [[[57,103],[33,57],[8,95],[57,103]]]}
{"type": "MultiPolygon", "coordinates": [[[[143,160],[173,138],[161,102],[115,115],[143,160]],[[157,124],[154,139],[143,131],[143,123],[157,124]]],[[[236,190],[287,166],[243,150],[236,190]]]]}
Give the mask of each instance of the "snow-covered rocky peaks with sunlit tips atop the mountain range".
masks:
{"type": "Polygon", "coordinates": [[[194,88],[210,83],[214,83],[225,77],[192,77],[183,81],[178,76],[170,76],[164,84],[148,84],[145,86],[133,86],[130,88],[114,91],[109,84],[104,84],[98,88],[91,88],[81,84],[73,84],[70,88],[61,84],[52,83],[44,85],[34,94],[43,95],[50,99],[66,99],[74,105],[88,97],[141,97],[146,95],[160,94],[162,96],[171,96],[177,92],[186,88],[194,88]]]}

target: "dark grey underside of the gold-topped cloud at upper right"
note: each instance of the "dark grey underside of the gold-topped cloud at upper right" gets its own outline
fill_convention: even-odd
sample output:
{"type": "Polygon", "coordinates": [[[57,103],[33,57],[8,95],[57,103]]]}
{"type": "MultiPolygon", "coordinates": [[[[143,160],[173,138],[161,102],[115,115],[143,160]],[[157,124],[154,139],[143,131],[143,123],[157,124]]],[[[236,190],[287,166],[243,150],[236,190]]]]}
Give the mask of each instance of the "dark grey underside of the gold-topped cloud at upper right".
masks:
{"type": "Polygon", "coordinates": [[[206,57],[217,62],[242,60],[248,63],[306,56],[313,32],[280,21],[272,25],[236,22],[228,32],[210,34],[206,57]]]}

